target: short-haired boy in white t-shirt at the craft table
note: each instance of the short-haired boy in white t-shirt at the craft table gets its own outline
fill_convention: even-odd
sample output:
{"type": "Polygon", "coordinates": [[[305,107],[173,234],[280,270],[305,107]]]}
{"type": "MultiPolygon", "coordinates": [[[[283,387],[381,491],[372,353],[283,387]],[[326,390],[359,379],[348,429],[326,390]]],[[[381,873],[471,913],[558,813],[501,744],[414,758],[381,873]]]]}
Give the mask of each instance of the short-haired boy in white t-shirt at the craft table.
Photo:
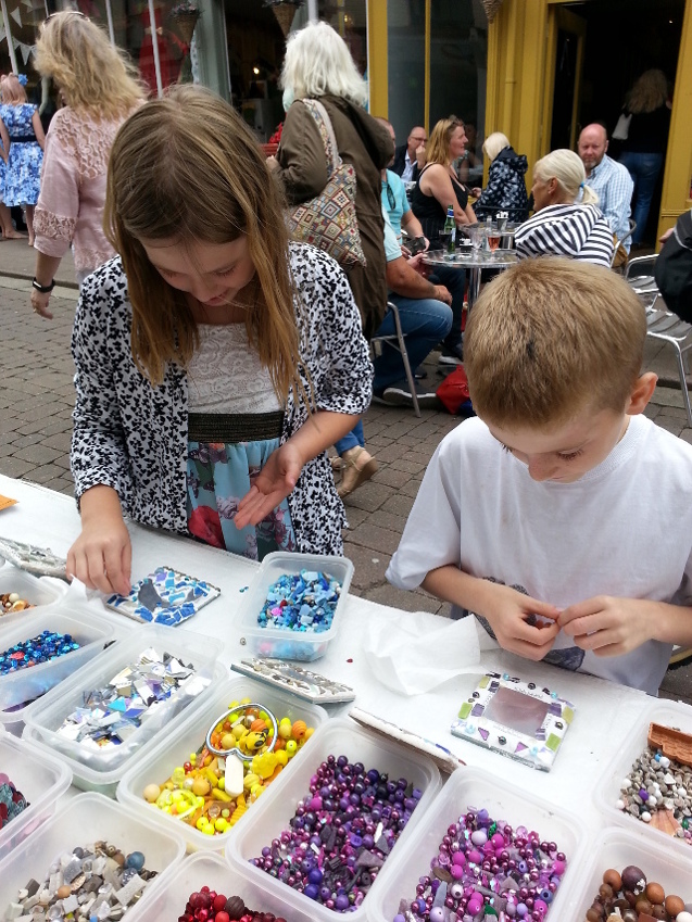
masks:
{"type": "Polygon", "coordinates": [[[605,268],[530,260],[465,336],[478,418],[443,439],[387,578],[504,648],[656,694],[692,645],[692,446],[644,417],[644,310],[605,268]]]}

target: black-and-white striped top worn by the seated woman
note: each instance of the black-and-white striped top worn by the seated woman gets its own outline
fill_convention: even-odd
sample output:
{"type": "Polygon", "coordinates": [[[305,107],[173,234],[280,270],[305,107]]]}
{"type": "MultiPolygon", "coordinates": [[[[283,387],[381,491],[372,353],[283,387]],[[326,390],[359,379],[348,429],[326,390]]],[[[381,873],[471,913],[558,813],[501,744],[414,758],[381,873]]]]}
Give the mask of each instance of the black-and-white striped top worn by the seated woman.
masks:
{"type": "Polygon", "coordinates": [[[593,205],[548,205],[519,226],[514,237],[517,255],[568,256],[611,266],[613,233],[593,205]]]}

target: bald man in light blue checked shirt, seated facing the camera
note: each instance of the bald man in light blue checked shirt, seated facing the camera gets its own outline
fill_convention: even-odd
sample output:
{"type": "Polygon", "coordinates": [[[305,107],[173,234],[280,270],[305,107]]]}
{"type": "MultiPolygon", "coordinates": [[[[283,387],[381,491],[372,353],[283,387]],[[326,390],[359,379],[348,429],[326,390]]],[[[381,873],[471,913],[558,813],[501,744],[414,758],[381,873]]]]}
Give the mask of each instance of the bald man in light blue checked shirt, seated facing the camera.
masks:
{"type": "MultiPolygon", "coordinates": [[[[599,207],[618,240],[629,231],[630,202],[634,184],[629,170],[612,160],[606,151],[608,135],[603,125],[587,125],[577,148],[587,170],[587,185],[599,197],[599,207]]],[[[629,253],[630,241],[622,247],[629,253]]]]}

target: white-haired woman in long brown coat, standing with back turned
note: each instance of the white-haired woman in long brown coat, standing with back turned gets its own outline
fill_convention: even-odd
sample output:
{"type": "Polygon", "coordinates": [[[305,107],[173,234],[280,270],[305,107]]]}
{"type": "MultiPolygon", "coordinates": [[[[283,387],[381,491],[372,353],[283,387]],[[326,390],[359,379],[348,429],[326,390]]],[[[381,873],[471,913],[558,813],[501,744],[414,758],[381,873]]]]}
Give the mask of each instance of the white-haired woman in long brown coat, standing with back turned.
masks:
{"type": "MultiPolygon", "coordinates": [[[[381,170],[394,155],[389,130],[365,111],[367,85],[349,47],[327,23],[311,23],[288,39],[281,72],[286,122],[276,160],[269,167],[280,177],[291,205],[318,195],[327,185],[325,144],[305,99],[318,100],[334,128],[338,153],[355,169],[355,214],[366,265],[342,266],[369,339],[387,307],[387,262],[382,217],[381,170]]],[[[377,471],[365,449],[358,421],[336,443],[342,471],[339,495],[348,496],[377,471]]]]}

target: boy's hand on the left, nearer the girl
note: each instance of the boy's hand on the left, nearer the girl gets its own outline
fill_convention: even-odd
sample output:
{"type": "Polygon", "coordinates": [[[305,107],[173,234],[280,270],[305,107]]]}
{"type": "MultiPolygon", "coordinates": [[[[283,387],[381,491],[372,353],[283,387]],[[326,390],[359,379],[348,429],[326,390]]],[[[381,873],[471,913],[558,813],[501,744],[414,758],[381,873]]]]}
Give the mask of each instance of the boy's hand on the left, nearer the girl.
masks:
{"type": "Polygon", "coordinates": [[[499,583],[488,583],[486,592],[489,605],[479,614],[490,622],[500,646],[527,659],[543,659],[559,633],[559,608],[499,583]]]}

